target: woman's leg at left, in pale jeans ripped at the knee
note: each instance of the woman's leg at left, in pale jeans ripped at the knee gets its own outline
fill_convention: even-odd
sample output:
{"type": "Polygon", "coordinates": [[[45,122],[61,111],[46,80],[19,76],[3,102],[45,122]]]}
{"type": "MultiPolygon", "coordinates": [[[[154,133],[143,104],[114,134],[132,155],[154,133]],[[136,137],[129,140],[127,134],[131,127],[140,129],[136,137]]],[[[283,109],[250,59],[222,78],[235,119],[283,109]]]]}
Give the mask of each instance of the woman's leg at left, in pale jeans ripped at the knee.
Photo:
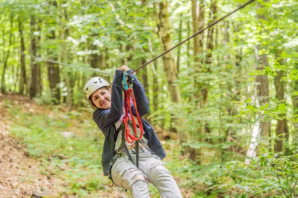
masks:
{"type": "Polygon", "coordinates": [[[133,198],[150,198],[147,176],[125,154],[121,154],[113,165],[112,178],[117,186],[130,190],[133,198]]]}

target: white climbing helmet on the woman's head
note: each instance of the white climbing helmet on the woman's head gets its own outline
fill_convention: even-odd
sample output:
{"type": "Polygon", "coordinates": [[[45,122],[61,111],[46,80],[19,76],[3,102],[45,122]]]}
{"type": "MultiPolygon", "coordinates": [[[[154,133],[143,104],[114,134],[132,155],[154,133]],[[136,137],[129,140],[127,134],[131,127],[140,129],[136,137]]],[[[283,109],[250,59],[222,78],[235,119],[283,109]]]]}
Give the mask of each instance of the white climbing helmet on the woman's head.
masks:
{"type": "Polygon", "coordinates": [[[94,77],[88,80],[88,82],[85,84],[85,87],[84,87],[84,93],[87,97],[87,100],[89,100],[90,95],[94,91],[104,86],[108,86],[110,89],[112,88],[110,83],[108,83],[105,79],[101,77],[94,77]]]}

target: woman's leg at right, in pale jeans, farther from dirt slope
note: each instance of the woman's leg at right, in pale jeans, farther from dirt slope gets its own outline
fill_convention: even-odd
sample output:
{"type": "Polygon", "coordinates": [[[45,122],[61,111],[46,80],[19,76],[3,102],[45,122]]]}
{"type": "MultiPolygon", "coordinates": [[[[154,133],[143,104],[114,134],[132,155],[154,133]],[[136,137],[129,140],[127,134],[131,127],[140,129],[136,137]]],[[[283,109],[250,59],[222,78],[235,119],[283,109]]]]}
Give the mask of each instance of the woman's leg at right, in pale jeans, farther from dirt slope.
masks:
{"type": "MultiPolygon", "coordinates": [[[[135,156],[132,156],[135,157],[135,156]]],[[[135,161],[135,159],[133,158],[135,161]]],[[[139,150],[139,169],[148,176],[149,181],[157,188],[162,198],[182,198],[179,187],[157,155],[146,148],[139,150]]]]}

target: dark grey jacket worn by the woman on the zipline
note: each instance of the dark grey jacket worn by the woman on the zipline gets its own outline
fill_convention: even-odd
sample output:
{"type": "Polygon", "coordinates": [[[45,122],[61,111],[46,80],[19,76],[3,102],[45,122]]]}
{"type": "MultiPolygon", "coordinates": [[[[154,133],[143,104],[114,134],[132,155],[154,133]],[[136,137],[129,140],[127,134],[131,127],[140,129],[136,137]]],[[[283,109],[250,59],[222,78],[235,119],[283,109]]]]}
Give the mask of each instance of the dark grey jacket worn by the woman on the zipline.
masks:
{"type": "MultiPolygon", "coordinates": [[[[129,70],[127,72],[131,72],[129,70]]],[[[134,75],[134,74],[133,74],[134,75]]],[[[140,117],[149,112],[149,101],[146,97],[145,90],[140,81],[135,77],[133,85],[134,95],[136,97],[138,112],[140,117]]],[[[132,104],[132,112],[136,116],[136,109],[132,104]]],[[[120,119],[123,114],[123,90],[122,90],[122,70],[116,70],[111,95],[111,109],[96,109],[93,112],[93,120],[97,124],[98,128],[104,134],[104,143],[102,150],[101,165],[103,168],[103,174],[107,175],[107,169],[112,157],[115,155],[114,147],[116,142],[115,137],[115,123],[120,119]]],[[[148,139],[148,145],[151,150],[163,159],[166,156],[162,145],[157,138],[151,125],[142,118],[142,124],[144,129],[144,136],[148,139]]]]}

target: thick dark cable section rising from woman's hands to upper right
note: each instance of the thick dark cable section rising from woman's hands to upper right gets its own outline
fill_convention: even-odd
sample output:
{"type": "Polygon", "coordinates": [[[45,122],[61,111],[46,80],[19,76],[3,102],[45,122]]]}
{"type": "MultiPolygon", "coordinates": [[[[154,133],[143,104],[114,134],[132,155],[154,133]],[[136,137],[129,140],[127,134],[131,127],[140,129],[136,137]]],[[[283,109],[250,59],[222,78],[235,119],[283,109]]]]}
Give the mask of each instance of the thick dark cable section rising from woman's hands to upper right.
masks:
{"type": "MultiPolygon", "coordinates": [[[[243,5],[241,5],[240,7],[238,7],[237,9],[235,9],[235,10],[233,10],[232,12],[230,12],[230,13],[226,14],[225,16],[223,16],[222,18],[218,19],[217,21],[215,21],[215,22],[211,23],[210,25],[208,25],[208,26],[207,26],[207,27],[205,27],[204,29],[202,29],[202,30],[198,31],[198,32],[197,32],[197,33],[195,33],[194,35],[192,35],[192,36],[188,37],[188,38],[187,38],[187,39],[185,39],[184,41],[182,41],[182,42],[180,42],[179,44],[175,45],[175,46],[174,46],[174,47],[172,47],[171,49],[168,49],[167,51],[165,51],[165,52],[164,52],[164,53],[162,53],[161,55],[159,55],[159,56],[155,57],[154,59],[150,60],[149,62],[145,63],[144,65],[142,65],[142,66],[140,66],[140,67],[136,68],[135,70],[133,70],[133,71],[132,71],[132,72],[130,72],[129,74],[132,74],[132,73],[136,72],[137,70],[141,69],[142,67],[144,67],[144,66],[147,66],[149,63],[152,63],[153,61],[155,61],[156,59],[158,59],[158,58],[162,57],[163,55],[167,54],[168,52],[172,51],[172,50],[173,50],[173,49],[175,49],[176,47],[179,47],[180,45],[182,45],[182,44],[183,44],[183,43],[185,43],[186,41],[188,41],[188,40],[190,40],[191,38],[193,38],[193,37],[197,36],[198,34],[200,34],[200,33],[204,32],[206,29],[208,29],[208,28],[210,28],[210,27],[214,26],[214,25],[215,25],[215,24],[217,24],[218,22],[220,22],[220,21],[224,20],[224,18],[226,18],[227,16],[229,16],[229,15],[233,14],[234,12],[236,12],[236,11],[238,11],[239,9],[241,9],[241,8],[245,7],[246,5],[248,5],[249,3],[253,2],[253,1],[254,1],[254,0],[247,1],[246,3],[244,3],[243,5]]],[[[128,75],[129,75],[129,74],[128,74],[128,75]]]]}

